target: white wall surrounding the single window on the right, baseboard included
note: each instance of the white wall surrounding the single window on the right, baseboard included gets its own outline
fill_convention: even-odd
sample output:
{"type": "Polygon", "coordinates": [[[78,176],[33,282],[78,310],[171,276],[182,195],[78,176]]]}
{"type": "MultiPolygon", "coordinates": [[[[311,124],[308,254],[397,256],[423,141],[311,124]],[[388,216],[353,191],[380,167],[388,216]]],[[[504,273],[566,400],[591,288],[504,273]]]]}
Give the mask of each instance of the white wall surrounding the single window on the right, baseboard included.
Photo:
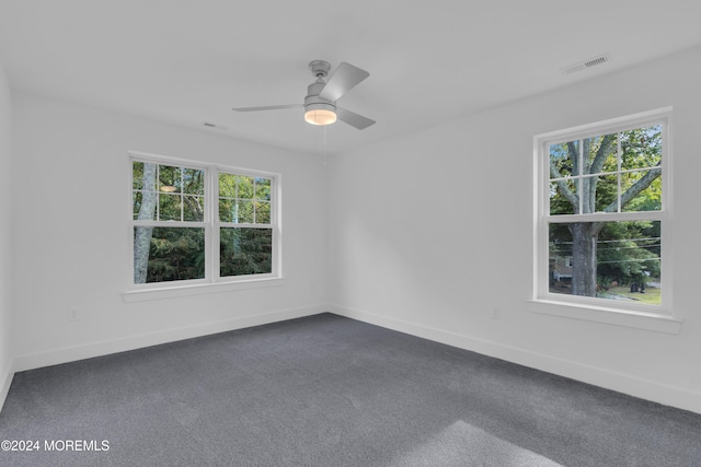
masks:
{"type": "Polygon", "coordinates": [[[693,49],[332,159],[336,312],[701,412],[699,83],[693,49]],[[533,136],[670,105],[680,334],[530,313],[533,136]]]}

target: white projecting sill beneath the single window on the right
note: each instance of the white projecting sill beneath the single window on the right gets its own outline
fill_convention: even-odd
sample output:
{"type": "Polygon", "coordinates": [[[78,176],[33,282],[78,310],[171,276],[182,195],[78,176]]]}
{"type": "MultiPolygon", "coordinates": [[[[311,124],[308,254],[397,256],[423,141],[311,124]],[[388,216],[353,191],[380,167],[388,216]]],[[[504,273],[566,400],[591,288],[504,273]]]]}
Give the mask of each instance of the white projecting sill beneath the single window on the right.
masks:
{"type": "Polygon", "coordinates": [[[682,320],[669,315],[607,308],[550,300],[529,300],[528,311],[551,316],[604,323],[645,329],[655,332],[679,334],[682,320]]]}

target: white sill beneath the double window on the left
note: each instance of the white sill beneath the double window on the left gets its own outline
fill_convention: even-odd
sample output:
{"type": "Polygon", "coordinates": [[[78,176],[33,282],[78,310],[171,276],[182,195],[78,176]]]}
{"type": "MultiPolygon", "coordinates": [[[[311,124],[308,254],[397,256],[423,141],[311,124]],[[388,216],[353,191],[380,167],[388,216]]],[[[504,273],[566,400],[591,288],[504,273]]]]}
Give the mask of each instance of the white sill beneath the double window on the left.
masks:
{"type": "Polygon", "coordinates": [[[284,278],[250,279],[235,282],[198,283],[188,285],[173,285],[158,289],[133,289],[122,293],[126,303],[145,302],[148,300],[175,299],[180,296],[225,293],[237,290],[279,287],[284,278]]]}

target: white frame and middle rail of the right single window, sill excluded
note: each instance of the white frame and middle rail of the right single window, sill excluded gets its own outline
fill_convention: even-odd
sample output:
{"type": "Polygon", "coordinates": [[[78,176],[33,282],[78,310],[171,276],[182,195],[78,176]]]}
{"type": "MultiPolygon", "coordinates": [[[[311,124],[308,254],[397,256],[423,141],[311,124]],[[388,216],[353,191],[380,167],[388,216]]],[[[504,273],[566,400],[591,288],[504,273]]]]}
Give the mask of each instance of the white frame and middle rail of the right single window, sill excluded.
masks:
{"type": "MultiPolygon", "coordinates": [[[[644,112],[620,118],[608,119],[590,125],[567,128],[541,133],[533,137],[533,284],[530,302],[531,311],[593,318],[598,322],[611,322],[607,313],[619,313],[622,316],[669,318],[677,322],[671,314],[671,107],[644,112]],[[658,211],[622,211],[595,212],[586,214],[550,214],[550,151],[551,144],[582,140],[585,138],[609,135],[613,132],[662,125],[662,208],[658,211]],[[549,290],[549,224],[552,222],[598,222],[598,221],[633,221],[659,220],[662,231],[660,282],[662,303],[659,305],[636,304],[634,302],[613,301],[600,297],[578,296],[551,293],[549,290]],[[541,306],[542,305],[542,306],[541,306]],[[604,316],[604,318],[596,318],[604,316]]],[[[612,324],[625,323],[625,319],[613,319],[612,324]]],[[[640,327],[640,326],[634,326],[640,327]]],[[[673,326],[674,328],[675,326],[673,326]]]]}

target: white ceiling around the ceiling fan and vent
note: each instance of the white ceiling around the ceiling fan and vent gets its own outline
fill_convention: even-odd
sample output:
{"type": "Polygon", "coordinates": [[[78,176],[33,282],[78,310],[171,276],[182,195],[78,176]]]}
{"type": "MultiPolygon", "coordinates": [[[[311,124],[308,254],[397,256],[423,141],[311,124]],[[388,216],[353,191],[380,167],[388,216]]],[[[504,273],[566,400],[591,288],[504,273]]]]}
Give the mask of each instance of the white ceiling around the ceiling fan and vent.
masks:
{"type": "Polygon", "coordinates": [[[699,45],[700,13],[698,0],[0,0],[0,61],[15,89],[333,154],[699,45]],[[324,135],[301,109],[231,110],[301,103],[315,59],[370,72],[338,104],[376,125],[324,135]]]}

